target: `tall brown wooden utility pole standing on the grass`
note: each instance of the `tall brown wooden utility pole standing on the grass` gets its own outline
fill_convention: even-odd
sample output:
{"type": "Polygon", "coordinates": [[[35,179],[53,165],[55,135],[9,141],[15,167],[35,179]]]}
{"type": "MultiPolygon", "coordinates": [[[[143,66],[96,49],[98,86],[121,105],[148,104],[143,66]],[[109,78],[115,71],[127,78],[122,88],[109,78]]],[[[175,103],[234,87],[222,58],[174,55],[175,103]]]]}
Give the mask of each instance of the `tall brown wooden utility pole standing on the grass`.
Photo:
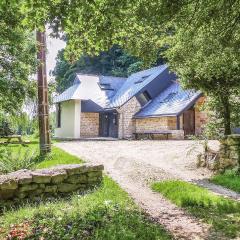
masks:
{"type": "Polygon", "coordinates": [[[46,74],[46,34],[38,31],[37,38],[37,59],[38,65],[38,121],[40,154],[45,155],[51,151],[50,131],[49,131],[49,106],[48,106],[48,83],[46,74]]]}

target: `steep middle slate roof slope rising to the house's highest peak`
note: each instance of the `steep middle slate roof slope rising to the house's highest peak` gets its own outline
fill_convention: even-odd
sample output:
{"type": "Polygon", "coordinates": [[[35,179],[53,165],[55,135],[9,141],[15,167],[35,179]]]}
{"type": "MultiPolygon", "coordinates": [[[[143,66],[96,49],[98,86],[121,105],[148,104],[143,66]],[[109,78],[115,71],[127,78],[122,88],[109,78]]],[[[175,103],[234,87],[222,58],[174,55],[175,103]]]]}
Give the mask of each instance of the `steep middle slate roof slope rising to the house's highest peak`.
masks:
{"type": "Polygon", "coordinates": [[[132,74],[113,96],[108,108],[122,106],[165,69],[167,69],[166,64],[132,74]]]}

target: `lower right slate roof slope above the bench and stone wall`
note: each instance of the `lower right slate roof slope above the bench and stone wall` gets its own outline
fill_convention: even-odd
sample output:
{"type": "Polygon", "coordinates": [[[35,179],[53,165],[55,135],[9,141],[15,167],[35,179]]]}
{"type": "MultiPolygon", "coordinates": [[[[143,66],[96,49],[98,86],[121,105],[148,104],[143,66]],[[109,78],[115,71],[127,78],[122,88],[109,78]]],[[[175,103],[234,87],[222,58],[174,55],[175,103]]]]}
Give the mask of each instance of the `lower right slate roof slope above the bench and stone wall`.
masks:
{"type": "Polygon", "coordinates": [[[143,107],[134,117],[178,116],[190,108],[201,95],[202,93],[199,91],[184,90],[179,83],[175,82],[143,107]]]}

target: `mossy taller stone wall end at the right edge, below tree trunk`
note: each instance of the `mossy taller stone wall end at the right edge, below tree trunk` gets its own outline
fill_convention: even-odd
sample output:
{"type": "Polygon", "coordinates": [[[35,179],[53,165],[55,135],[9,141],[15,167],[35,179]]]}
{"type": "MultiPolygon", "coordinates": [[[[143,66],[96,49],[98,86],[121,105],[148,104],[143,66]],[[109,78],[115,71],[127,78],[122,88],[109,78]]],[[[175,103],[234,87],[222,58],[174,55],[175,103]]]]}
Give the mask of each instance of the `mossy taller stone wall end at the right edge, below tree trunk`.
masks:
{"type": "Polygon", "coordinates": [[[240,134],[232,134],[221,140],[219,169],[237,167],[240,164],[240,134]]]}

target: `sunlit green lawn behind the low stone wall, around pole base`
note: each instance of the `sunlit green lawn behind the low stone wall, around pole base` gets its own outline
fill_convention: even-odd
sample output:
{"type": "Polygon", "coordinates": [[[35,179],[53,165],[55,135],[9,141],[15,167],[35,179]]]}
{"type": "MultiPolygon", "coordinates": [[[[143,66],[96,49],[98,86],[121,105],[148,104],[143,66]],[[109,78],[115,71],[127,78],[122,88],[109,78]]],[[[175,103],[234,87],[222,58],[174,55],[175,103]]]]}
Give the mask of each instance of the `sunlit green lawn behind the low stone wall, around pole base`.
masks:
{"type": "Polygon", "coordinates": [[[0,161],[0,173],[7,173],[23,168],[48,168],[60,164],[77,164],[83,162],[76,156],[68,154],[55,146],[52,146],[52,152],[50,154],[45,157],[40,157],[38,141],[33,138],[30,140],[31,143],[24,146],[9,144],[0,147],[0,151],[4,149],[7,151],[7,153],[5,153],[6,156],[0,161]]]}

